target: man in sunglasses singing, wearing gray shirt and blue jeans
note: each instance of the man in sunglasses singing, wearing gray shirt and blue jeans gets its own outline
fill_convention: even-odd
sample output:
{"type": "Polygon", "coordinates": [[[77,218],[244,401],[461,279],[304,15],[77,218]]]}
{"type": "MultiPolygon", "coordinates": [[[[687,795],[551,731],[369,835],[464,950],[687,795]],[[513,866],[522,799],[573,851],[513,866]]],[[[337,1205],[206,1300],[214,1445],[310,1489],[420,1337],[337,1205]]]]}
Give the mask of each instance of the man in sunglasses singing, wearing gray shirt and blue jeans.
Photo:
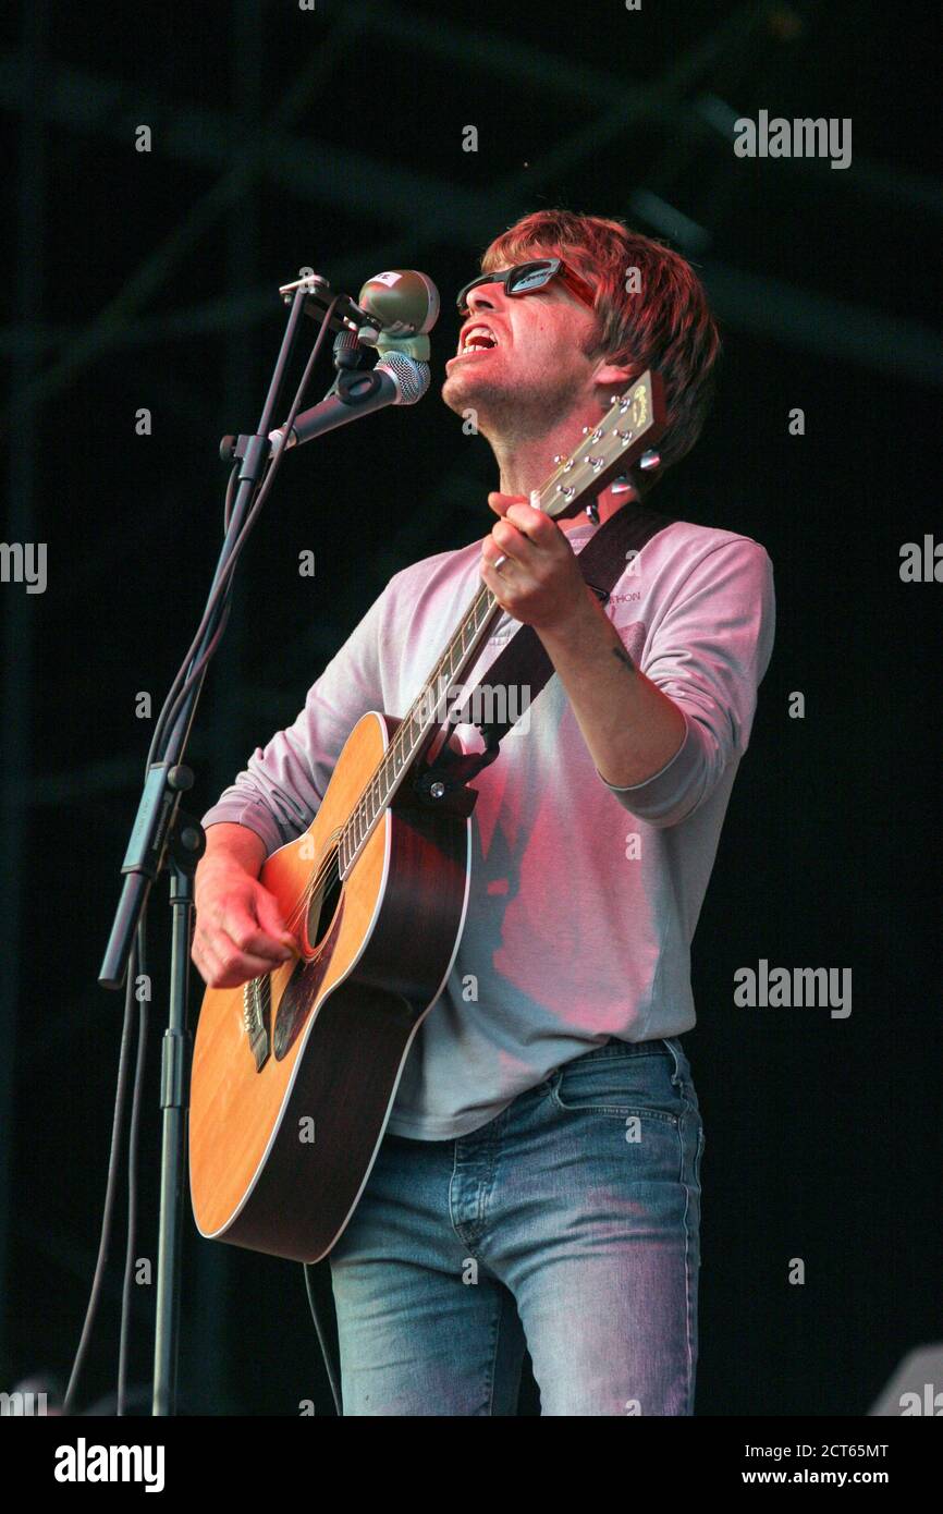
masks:
{"type": "Polygon", "coordinates": [[[344,1413],[513,1414],[527,1347],[543,1414],[692,1414],[704,1128],[680,1037],[772,569],[746,536],[669,521],[602,604],[577,554],[634,492],[605,489],[596,521],[528,503],[646,369],[663,469],[693,447],[719,341],[689,263],[540,210],[481,269],[442,398],[492,447],[496,519],[394,574],[203,816],[194,961],[236,987],[297,949],[262,863],[310,824],[357,719],[410,707],[484,580],[503,615],[471,683],[521,624],[556,675],[475,778],[459,951],[331,1252],[344,1413]]]}

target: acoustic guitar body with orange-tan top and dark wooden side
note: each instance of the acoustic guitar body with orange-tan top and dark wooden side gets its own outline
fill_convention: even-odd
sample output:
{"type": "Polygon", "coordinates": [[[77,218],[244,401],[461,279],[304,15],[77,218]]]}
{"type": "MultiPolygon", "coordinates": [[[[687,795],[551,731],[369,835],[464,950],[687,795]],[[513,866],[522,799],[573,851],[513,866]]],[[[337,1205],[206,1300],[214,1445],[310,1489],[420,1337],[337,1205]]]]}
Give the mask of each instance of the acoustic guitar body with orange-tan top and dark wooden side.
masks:
{"type": "Polygon", "coordinates": [[[303,943],[245,989],[207,989],[194,1045],[189,1172],[210,1240],[318,1261],[366,1184],[406,1055],[454,961],[471,822],[406,781],[341,883],[331,854],[398,725],[365,715],[310,828],[260,881],[303,943]]]}

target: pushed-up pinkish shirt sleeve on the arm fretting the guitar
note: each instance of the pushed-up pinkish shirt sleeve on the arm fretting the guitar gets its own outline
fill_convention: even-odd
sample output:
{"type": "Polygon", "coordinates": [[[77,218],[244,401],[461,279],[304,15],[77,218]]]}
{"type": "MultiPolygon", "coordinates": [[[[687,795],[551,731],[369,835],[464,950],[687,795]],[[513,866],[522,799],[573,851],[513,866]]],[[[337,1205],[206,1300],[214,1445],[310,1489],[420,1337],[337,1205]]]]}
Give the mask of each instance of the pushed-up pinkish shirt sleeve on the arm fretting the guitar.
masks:
{"type": "Polygon", "coordinates": [[[657,624],[642,672],[684,716],[675,755],[645,783],[618,787],[619,802],[649,825],[678,825],[704,804],[749,742],[757,689],[775,631],[772,563],[737,536],[692,568],[657,624]]]}

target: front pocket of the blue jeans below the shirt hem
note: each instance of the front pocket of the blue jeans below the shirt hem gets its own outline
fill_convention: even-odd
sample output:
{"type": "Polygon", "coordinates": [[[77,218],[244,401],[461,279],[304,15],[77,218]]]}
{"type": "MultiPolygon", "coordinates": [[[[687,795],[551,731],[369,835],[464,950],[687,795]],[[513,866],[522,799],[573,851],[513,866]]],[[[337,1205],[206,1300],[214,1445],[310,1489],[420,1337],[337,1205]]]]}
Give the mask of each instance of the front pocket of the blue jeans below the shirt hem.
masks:
{"type": "Polygon", "coordinates": [[[684,1096],[672,1083],[674,1060],[664,1049],[599,1057],[590,1052],[559,1069],[552,1096],[562,1110],[663,1120],[678,1126],[684,1096]]]}

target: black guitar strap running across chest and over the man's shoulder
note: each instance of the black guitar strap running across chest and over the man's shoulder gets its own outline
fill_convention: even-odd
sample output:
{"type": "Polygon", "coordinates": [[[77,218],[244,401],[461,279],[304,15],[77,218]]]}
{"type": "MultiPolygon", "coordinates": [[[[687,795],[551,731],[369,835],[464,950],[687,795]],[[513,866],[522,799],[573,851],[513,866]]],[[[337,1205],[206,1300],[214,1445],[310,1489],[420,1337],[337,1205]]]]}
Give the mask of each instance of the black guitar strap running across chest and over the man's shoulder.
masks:
{"type": "MultiPolygon", "coordinates": [[[[630,554],[640,551],[652,536],[671,524],[669,516],[658,515],[636,498],[628,500],[590,536],[586,547],[577,553],[577,562],[586,583],[602,604],[607,603],[612,589],[625,572],[630,554]]],[[[501,707],[498,693],[504,689],[503,707],[507,710],[510,709],[507,693],[512,687],[527,687],[533,704],[552,672],[554,665],[533,625],[522,625],[483,675],[486,683],[481,687],[492,689],[492,698],[498,707],[501,707]]],[[[443,784],[445,792],[454,792],[480,774],[483,768],[487,768],[498,755],[503,737],[518,719],[515,716],[512,721],[489,724],[472,721],[471,715],[477,698],[480,698],[480,689],[472,690],[462,710],[450,716],[450,725],[475,725],[484,737],[484,751],[462,754],[453,751],[445,742],[431,766],[422,769],[413,780],[419,798],[430,804],[437,802],[437,798],[430,793],[431,784],[443,784]]],[[[519,702],[516,702],[518,709],[519,702]]],[[[519,710],[519,713],[522,712],[519,710]]]]}

